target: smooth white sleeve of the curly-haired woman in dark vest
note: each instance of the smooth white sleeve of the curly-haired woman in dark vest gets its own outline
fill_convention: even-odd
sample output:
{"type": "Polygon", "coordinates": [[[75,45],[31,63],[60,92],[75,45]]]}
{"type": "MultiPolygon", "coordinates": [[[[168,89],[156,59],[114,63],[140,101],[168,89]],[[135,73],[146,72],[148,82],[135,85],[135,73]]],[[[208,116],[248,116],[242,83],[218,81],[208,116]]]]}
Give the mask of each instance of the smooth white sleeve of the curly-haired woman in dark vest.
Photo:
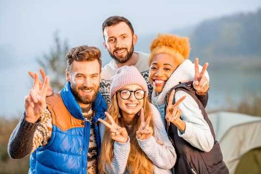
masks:
{"type": "Polygon", "coordinates": [[[178,134],[194,147],[209,152],[214,145],[214,138],[207,122],[204,120],[197,102],[186,92],[177,91],[174,95],[175,101],[186,96],[178,107],[182,110],[180,118],[185,123],[185,131],[178,129],[178,134]]]}

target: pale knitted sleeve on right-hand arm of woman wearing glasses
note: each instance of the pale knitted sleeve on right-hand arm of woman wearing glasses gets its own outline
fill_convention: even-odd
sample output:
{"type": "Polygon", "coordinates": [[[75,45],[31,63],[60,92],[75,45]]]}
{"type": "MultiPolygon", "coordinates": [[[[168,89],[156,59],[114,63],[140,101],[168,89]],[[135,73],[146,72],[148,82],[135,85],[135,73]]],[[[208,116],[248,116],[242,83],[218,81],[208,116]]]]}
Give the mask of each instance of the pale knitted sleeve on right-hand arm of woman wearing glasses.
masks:
{"type": "Polygon", "coordinates": [[[160,118],[158,110],[151,104],[154,120],[154,136],[147,140],[138,140],[141,149],[154,165],[162,169],[171,169],[177,159],[175,149],[169,141],[168,134],[160,118]]]}

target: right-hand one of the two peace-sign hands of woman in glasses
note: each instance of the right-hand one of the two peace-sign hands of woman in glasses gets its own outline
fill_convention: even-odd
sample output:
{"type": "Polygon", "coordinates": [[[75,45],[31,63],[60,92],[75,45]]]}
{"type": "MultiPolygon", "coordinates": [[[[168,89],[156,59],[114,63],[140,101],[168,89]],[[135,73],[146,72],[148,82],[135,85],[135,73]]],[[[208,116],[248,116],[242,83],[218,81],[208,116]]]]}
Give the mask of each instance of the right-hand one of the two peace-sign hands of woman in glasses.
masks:
{"type": "Polygon", "coordinates": [[[140,110],[140,126],[138,131],[136,131],[137,138],[140,140],[146,140],[151,138],[153,134],[153,129],[150,127],[150,121],[152,118],[152,113],[148,116],[146,122],[144,121],[144,110],[143,107],[140,110]]]}

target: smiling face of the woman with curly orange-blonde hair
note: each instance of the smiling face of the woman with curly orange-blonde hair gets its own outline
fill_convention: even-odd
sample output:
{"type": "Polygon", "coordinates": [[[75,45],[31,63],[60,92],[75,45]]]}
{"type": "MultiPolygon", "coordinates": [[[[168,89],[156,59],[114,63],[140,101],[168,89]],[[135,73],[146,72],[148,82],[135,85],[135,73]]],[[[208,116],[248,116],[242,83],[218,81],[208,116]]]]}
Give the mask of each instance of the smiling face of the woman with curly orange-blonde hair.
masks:
{"type": "Polygon", "coordinates": [[[169,77],[178,66],[169,54],[157,54],[152,58],[149,81],[156,92],[162,92],[169,77]]]}

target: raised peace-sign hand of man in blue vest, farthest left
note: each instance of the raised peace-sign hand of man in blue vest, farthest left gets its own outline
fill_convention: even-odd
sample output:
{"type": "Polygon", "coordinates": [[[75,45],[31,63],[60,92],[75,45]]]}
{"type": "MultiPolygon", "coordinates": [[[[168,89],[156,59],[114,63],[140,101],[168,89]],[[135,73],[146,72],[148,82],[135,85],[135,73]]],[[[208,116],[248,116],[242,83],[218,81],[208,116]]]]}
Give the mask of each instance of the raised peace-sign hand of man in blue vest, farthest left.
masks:
{"type": "Polygon", "coordinates": [[[42,87],[39,87],[38,73],[34,73],[33,89],[25,97],[25,119],[35,123],[46,109],[46,93],[49,87],[49,76],[45,77],[42,87]]]}

